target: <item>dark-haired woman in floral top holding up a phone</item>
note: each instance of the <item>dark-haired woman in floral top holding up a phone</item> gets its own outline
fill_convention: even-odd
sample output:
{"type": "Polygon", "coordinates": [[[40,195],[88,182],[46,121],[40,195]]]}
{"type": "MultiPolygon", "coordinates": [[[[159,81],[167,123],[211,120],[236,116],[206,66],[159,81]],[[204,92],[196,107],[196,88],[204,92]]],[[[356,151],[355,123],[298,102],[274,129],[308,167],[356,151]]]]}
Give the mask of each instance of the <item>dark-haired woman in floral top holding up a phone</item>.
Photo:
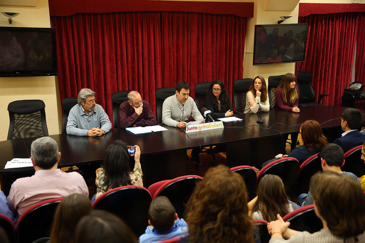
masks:
{"type": "Polygon", "coordinates": [[[138,145],[135,154],[129,154],[127,145],[122,140],[115,140],[107,147],[101,168],[96,170],[96,198],[104,192],[119,186],[143,186],[143,173],[139,157],[141,150],[138,145]],[[134,156],[134,169],[129,166],[129,157],[134,156]]]}

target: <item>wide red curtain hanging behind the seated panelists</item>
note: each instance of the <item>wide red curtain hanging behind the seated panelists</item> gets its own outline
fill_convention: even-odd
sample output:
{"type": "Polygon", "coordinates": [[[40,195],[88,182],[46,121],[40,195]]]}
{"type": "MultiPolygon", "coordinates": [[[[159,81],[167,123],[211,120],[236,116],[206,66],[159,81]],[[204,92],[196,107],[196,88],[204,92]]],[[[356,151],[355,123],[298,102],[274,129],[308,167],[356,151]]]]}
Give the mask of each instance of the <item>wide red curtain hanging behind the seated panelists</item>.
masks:
{"type": "Polygon", "coordinates": [[[181,12],[52,17],[61,100],[91,88],[112,120],[112,93],[137,90],[155,110],[155,89],[220,79],[232,96],[243,77],[246,18],[181,12]]]}

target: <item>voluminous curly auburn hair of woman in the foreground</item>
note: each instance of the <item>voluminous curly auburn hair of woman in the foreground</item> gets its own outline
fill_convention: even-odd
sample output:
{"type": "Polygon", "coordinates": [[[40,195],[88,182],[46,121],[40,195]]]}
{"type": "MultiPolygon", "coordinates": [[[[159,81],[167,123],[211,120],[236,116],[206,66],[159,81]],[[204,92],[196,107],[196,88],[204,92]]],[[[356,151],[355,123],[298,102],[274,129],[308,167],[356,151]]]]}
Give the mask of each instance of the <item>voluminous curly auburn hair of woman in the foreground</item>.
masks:
{"type": "Polygon", "coordinates": [[[247,190],[241,175],[224,165],[208,169],[185,209],[188,242],[253,242],[247,190]]]}

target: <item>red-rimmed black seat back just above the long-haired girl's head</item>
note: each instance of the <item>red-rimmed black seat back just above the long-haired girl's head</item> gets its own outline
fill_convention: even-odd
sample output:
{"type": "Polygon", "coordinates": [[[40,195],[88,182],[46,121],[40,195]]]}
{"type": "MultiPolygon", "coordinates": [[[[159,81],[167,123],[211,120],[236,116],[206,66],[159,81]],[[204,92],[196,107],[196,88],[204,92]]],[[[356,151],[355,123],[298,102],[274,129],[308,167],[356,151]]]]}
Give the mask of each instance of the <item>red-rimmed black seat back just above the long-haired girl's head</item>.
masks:
{"type": "Polygon", "coordinates": [[[290,197],[293,192],[294,185],[297,182],[299,170],[300,166],[296,158],[286,157],[277,159],[259,171],[257,174],[257,185],[261,178],[267,174],[278,175],[283,181],[287,196],[290,197]]]}

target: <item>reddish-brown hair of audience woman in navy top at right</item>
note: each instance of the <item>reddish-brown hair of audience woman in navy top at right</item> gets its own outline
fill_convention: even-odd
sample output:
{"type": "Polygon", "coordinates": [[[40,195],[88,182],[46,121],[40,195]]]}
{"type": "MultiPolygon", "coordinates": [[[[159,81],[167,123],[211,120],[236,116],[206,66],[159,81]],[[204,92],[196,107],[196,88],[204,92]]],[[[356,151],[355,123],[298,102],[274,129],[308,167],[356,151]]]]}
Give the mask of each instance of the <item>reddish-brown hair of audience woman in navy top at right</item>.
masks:
{"type": "Polygon", "coordinates": [[[322,133],[322,127],[315,120],[306,120],[300,124],[300,134],[303,140],[303,146],[308,150],[312,151],[313,147],[321,150],[326,146],[327,138],[322,133]]]}

